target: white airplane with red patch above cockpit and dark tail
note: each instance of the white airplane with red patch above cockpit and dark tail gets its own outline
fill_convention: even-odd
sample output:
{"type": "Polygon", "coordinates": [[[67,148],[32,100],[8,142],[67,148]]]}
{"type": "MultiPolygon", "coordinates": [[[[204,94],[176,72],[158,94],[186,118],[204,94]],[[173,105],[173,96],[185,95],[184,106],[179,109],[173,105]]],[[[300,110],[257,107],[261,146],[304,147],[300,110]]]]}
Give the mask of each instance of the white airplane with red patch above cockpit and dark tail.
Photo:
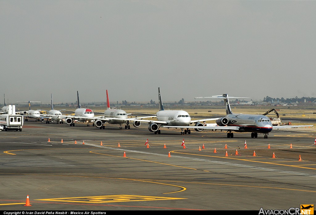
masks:
{"type": "MultiPolygon", "coordinates": [[[[88,108],[82,108],[79,102],[79,93],[77,91],[77,102],[78,102],[78,108],[75,111],[71,110],[61,110],[61,111],[67,111],[67,112],[73,112],[75,113],[75,116],[65,116],[65,122],[70,126],[75,126],[75,121],[77,122],[86,122],[87,126],[89,125],[89,122],[94,122],[94,120],[91,118],[94,117],[94,112],[91,109],[88,108]]],[[[94,126],[94,123],[93,123],[94,126]]]]}

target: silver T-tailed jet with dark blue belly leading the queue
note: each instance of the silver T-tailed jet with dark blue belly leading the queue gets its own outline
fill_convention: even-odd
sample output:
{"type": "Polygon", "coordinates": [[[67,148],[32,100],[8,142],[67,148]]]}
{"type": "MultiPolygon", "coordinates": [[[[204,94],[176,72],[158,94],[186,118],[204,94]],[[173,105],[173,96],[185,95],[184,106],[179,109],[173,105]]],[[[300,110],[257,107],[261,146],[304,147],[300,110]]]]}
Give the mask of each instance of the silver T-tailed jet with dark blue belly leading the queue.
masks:
{"type": "MultiPolygon", "coordinates": [[[[228,99],[250,99],[250,98],[238,98],[238,97],[228,97],[228,94],[223,94],[222,96],[212,96],[212,97],[196,97],[194,99],[224,99],[226,116],[218,118],[216,124],[218,126],[204,126],[203,129],[210,130],[227,130],[227,137],[233,138],[235,132],[251,132],[252,138],[257,138],[258,133],[264,134],[264,138],[268,138],[268,134],[272,129],[281,128],[298,128],[298,127],[312,127],[313,125],[278,125],[273,126],[269,117],[265,115],[256,114],[234,114],[230,108],[228,99]]],[[[164,126],[167,128],[175,128],[176,126],[164,126]]],[[[190,128],[194,128],[191,126],[190,128]]],[[[179,126],[178,126],[179,128],[179,126]]]]}

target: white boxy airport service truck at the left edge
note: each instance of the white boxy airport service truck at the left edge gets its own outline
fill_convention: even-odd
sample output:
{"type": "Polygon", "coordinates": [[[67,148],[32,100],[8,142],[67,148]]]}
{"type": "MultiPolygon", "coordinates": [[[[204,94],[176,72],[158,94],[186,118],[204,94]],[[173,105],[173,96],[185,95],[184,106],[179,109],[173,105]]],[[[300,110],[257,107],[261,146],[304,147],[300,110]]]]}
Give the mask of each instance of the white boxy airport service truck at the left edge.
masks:
{"type": "Polygon", "coordinates": [[[22,115],[15,114],[15,105],[9,105],[8,113],[0,115],[0,126],[2,126],[5,131],[22,131],[23,120],[22,115]]]}

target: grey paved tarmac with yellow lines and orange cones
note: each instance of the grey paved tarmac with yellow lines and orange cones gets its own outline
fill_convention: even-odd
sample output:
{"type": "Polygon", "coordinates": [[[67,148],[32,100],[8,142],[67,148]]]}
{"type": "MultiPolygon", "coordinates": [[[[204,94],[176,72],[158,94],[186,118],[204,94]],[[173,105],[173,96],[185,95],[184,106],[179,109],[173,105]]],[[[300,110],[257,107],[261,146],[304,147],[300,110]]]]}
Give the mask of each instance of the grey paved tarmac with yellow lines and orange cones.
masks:
{"type": "Polygon", "coordinates": [[[30,119],[21,132],[1,132],[0,210],[259,211],[315,204],[315,128],[273,130],[264,139],[167,128],[154,134],[147,127],[30,119]],[[31,206],[24,206],[27,195],[31,206]]]}

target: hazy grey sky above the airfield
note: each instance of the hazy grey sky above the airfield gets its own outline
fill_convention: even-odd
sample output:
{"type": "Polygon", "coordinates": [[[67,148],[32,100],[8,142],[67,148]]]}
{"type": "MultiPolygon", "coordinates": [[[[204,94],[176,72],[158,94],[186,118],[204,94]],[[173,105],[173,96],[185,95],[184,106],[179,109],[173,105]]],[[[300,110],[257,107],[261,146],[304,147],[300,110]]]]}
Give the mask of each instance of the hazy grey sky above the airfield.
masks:
{"type": "MultiPolygon", "coordinates": [[[[316,1],[0,0],[16,101],[316,97],[316,1]]],[[[197,100],[196,100],[197,101],[197,100]]],[[[200,101],[200,100],[198,100],[200,101]]],[[[0,103],[3,103],[0,94],[0,103]]]]}

